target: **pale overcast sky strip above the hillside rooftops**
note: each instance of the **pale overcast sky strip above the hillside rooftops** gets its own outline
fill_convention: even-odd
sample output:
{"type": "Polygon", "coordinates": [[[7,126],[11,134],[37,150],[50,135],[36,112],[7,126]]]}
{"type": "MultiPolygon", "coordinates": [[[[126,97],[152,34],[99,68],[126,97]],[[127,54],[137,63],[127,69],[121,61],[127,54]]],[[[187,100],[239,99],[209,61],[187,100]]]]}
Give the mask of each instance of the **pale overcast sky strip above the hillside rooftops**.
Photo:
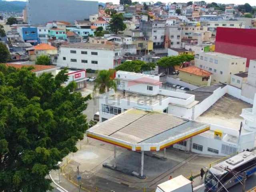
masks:
{"type": "MultiPolygon", "coordinates": [[[[7,0],[7,1],[13,1],[13,0],[7,0]]],[[[21,0],[21,1],[26,1],[26,0],[21,0]]],[[[132,0],[132,1],[139,1],[140,0],[132,0]]],[[[151,0],[143,0],[143,1],[151,1],[151,0]]],[[[158,0],[155,0],[154,2],[157,2],[158,0]]],[[[188,2],[190,0],[160,0],[163,3],[167,3],[167,2],[188,2]]],[[[197,1],[197,0],[196,0],[197,1]]],[[[199,0],[198,0],[199,1],[199,0]]],[[[216,3],[223,3],[223,4],[229,4],[229,3],[233,3],[233,4],[244,4],[244,3],[249,3],[251,6],[256,6],[256,0],[204,0],[206,2],[216,2],[216,3]]],[[[98,2],[113,2],[114,4],[119,4],[119,0],[98,0],[98,2]]]]}

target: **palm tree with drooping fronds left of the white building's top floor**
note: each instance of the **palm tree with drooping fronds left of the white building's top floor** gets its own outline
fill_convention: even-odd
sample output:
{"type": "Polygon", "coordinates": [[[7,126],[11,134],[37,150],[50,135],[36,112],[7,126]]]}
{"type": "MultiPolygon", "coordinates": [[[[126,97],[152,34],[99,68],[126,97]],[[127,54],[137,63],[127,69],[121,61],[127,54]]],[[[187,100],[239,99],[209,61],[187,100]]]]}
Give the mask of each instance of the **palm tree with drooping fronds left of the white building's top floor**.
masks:
{"type": "Polygon", "coordinates": [[[114,72],[111,70],[101,70],[95,80],[94,91],[99,89],[100,94],[103,94],[106,90],[108,92],[110,88],[116,90],[116,82],[112,78],[113,74],[114,72]]]}

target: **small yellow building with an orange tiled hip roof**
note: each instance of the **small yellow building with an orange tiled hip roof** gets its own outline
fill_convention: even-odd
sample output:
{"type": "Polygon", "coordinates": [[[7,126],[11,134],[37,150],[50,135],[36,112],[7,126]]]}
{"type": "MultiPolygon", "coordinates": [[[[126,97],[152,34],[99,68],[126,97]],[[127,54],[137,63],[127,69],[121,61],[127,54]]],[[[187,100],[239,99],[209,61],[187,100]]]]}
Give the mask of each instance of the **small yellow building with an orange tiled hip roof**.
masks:
{"type": "Polygon", "coordinates": [[[195,86],[210,86],[211,73],[195,66],[188,66],[179,70],[178,78],[195,86]]]}

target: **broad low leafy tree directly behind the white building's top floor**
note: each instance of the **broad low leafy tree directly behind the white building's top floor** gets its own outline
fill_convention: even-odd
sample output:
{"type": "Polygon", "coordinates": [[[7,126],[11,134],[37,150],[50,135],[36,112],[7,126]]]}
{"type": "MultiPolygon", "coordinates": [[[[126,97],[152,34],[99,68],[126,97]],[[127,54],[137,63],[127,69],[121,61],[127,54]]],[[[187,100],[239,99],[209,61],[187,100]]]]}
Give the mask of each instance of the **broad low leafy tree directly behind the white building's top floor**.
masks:
{"type": "Polygon", "coordinates": [[[123,64],[120,64],[115,69],[116,71],[128,71],[128,72],[136,72],[142,73],[144,71],[151,71],[156,68],[156,64],[154,63],[146,63],[144,61],[136,60],[136,61],[126,61],[123,64]]]}

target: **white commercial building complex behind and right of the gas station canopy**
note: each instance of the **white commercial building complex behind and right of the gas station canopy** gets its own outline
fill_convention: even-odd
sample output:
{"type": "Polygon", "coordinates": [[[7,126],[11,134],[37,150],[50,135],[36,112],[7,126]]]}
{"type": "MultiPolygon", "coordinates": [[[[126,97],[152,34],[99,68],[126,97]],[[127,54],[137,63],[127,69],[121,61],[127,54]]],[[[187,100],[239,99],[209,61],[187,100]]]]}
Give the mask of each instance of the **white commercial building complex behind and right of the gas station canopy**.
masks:
{"type": "MultiPolygon", "coordinates": [[[[160,88],[162,83],[159,81],[158,76],[124,71],[116,72],[116,83],[118,91],[114,92],[110,90],[110,92],[100,95],[100,122],[106,121],[106,123],[100,124],[99,127],[113,121],[118,122],[118,118],[124,121],[122,116],[133,116],[133,118],[136,116],[135,119],[139,119],[140,116],[150,116],[150,113],[147,112],[172,114],[192,124],[194,122],[206,123],[205,120],[207,118],[204,117],[200,119],[198,117],[228,92],[228,85],[225,87],[205,86],[189,91],[188,93],[164,90],[160,88]],[[130,110],[132,108],[136,108],[137,110],[130,110]],[[146,111],[146,113],[141,111],[146,111]],[[137,114],[137,112],[139,114],[137,114]]],[[[151,115],[151,118],[155,117],[151,115]]],[[[158,118],[160,118],[160,116],[158,116],[158,118]]],[[[173,117],[170,116],[170,118],[173,117]]],[[[159,119],[156,121],[159,121],[159,119]]],[[[214,121],[210,122],[210,130],[205,130],[206,132],[204,133],[174,143],[173,147],[200,154],[220,156],[226,156],[246,148],[252,149],[254,147],[254,132],[248,132],[246,130],[239,132],[233,127],[228,128],[212,124],[214,121]]],[[[127,121],[123,123],[129,124],[127,121]]],[[[132,121],[131,124],[134,124],[134,122],[132,121]]],[[[207,124],[209,124],[209,121],[207,124]]],[[[112,125],[114,126],[114,124],[112,125]]],[[[239,125],[240,122],[238,122],[238,127],[239,125]]],[[[156,124],[156,126],[158,126],[158,124],[156,124]]],[[[168,124],[164,124],[164,126],[168,126],[168,124]]],[[[170,130],[171,129],[172,128],[170,128],[170,130]]],[[[135,146],[132,150],[135,150],[135,146]]],[[[151,150],[151,148],[147,148],[147,150],[151,150]]],[[[159,150],[159,148],[156,147],[156,150],[159,150]]]]}

